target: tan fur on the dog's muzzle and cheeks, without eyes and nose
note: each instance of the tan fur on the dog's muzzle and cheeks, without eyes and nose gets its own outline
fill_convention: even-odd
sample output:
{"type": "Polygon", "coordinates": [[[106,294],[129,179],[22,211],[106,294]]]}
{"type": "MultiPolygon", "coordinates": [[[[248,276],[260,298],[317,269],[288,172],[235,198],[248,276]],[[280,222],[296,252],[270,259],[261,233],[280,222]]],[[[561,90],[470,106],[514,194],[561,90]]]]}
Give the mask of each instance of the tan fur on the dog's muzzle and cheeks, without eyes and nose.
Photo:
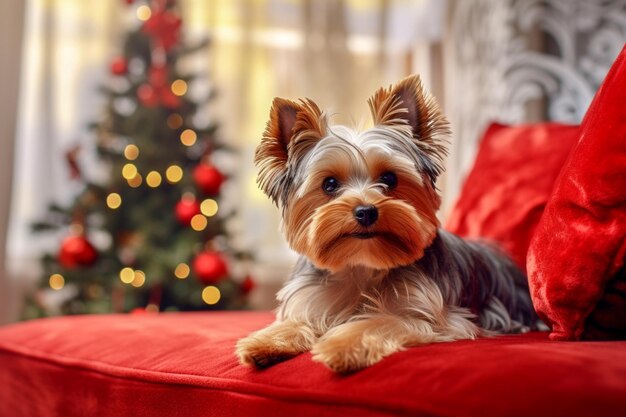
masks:
{"type": "MultiPolygon", "coordinates": [[[[392,170],[389,158],[368,156],[371,178],[392,170]]],[[[440,200],[428,181],[399,167],[396,163],[398,186],[393,190],[383,192],[370,186],[359,192],[346,185],[348,190],[336,198],[322,191],[323,179],[334,175],[345,182],[349,173],[333,174],[325,169],[312,173],[306,183],[310,183],[308,191],[294,199],[285,213],[284,226],[291,247],[330,271],[355,265],[391,269],[421,258],[439,226],[436,210],[440,200]],[[378,209],[378,221],[367,229],[378,236],[370,239],[351,236],[366,231],[353,215],[360,205],[374,205],[378,209]]]]}

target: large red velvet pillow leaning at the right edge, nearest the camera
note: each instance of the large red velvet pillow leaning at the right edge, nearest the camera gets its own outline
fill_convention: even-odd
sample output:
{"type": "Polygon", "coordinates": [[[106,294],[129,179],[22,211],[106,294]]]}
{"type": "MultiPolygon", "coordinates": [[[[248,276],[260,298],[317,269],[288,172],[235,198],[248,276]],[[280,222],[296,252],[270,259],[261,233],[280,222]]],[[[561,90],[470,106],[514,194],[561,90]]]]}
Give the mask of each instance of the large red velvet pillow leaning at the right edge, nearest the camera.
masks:
{"type": "Polygon", "coordinates": [[[554,340],[608,337],[611,327],[626,327],[619,272],[626,256],[626,48],[581,128],[528,253],[533,302],[554,340]]]}

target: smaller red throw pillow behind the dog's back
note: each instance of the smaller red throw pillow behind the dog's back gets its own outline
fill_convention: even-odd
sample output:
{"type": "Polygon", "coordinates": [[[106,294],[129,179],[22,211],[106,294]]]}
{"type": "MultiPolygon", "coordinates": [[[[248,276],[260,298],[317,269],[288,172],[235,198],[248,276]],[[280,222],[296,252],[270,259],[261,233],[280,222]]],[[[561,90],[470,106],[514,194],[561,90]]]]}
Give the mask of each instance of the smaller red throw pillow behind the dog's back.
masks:
{"type": "Polygon", "coordinates": [[[526,269],[526,252],[578,126],[492,124],[445,227],[495,241],[526,269]]]}

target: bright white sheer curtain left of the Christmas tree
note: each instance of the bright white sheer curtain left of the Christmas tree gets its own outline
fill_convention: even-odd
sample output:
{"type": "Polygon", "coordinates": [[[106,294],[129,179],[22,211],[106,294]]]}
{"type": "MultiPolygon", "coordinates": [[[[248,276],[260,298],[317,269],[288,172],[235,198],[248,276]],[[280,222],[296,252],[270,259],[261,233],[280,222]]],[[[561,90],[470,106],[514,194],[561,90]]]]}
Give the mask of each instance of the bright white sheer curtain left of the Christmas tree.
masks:
{"type": "Polygon", "coordinates": [[[42,250],[58,247],[54,236],[33,235],[31,223],[49,203],[70,201],[80,186],[70,180],[65,153],[81,146],[81,162],[92,164],[87,124],[101,110],[97,88],[115,53],[122,2],[19,3],[25,5],[18,19],[24,39],[7,244],[7,266],[18,290],[38,277],[42,250]]]}

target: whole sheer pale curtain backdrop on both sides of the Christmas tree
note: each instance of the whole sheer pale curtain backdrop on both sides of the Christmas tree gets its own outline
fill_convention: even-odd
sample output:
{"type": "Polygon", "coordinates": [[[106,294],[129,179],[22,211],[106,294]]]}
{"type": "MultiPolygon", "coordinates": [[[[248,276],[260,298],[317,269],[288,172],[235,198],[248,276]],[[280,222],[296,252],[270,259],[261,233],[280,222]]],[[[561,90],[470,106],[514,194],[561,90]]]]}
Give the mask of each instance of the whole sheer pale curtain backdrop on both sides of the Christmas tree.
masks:
{"type": "MultiPolygon", "coordinates": [[[[25,30],[15,187],[9,255],[16,277],[36,276],[35,262],[56,240],[34,239],[28,225],[51,201],[67,202],[65,152],[82,146],[84,170],[94,166],[87,124],[101,111],[99,84],[121,47],[134,8],[121,0],[29,0],[25,30]],[[32,272],[29,272],[32,270],[32,272]]],[[[366,120],[373,91],[418,70],[440,89],[433,64],[445,1],[438,0],[182,0],[188,39],[212,39],[205,54],[185,62],[205,71],[218,98],[208,117],[223,140],[240,149],[225,204],[240,216],[230,227],[235,245],[255,252],[256,280],[280,281],[293,259],[278,232],[279,218],[255,184],[254,148],[274,96],[309,97],[334,109],[336,121],[366,120]]],[[[193,93],[193,92],[191,92],[193,93]]],[[[435,91],[437,93],[437,91],[435,91]]],[[[207,116],[207,115],[204,115],[207,116]]],[[[226,161],[228,162],[228,161],[226,161]]],[[[269,290],[273,291],[273,288],[269,290]]],[[[273,298],[270,297],[270,298],[273,298]]]]}

